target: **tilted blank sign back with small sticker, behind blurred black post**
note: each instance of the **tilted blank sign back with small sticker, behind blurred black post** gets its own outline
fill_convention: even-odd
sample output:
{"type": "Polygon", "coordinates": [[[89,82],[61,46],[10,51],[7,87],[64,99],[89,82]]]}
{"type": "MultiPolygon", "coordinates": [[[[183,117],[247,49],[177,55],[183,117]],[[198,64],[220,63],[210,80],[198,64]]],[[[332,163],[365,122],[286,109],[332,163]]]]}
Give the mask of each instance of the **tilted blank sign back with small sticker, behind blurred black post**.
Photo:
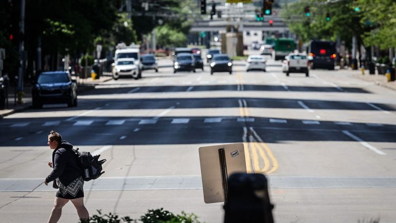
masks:
{"type": "Polygon", "coordinates": [[[206,204],[224,202],[224,189],[221,178],[221,167],[218,150],[224,149],[227,176],[234,172],[246,173],[245,150],[243,143],[200,147],[199,161],[203,198],[206,204]]]}

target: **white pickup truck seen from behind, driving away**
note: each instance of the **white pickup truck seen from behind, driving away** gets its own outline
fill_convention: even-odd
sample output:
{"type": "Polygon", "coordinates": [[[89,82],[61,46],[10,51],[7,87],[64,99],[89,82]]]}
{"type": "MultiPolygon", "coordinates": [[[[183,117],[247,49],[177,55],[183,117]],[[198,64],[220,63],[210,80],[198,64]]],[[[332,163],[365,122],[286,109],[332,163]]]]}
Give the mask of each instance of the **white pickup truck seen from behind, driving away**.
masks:
{"type": "Polygon", "coordinates": [[[309,62],[305,54],[290,53],[285,56],[282,64],[282,70],[288,76],[290,73],[304,73],[309,76],[308,71],[309,62]]]}

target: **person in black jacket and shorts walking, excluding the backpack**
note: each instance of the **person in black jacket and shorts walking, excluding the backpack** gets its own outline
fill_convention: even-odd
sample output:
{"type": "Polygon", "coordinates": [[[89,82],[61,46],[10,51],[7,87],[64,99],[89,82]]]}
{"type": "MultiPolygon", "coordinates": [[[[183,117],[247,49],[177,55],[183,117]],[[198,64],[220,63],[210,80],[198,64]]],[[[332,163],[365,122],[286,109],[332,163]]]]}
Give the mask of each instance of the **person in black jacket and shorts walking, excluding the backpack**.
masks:
{"type": "Polygon", "coordinates": [[[53,182],[54,188],[59,188],[56,192],[54,207],[52,208],[48,223],[56,223],[62,214],[62,207],[69,201],[77,210],[80,220],[88,220],[90,215],[84,206],[84,180],[81,169],[78,167],[72,144],[62,141],[62,136],[52,130],[48,135],[48,146],[54,149],[52,162],[48,166],[52,167],[52,172],[45,178],[44,184],[53,182]]]}

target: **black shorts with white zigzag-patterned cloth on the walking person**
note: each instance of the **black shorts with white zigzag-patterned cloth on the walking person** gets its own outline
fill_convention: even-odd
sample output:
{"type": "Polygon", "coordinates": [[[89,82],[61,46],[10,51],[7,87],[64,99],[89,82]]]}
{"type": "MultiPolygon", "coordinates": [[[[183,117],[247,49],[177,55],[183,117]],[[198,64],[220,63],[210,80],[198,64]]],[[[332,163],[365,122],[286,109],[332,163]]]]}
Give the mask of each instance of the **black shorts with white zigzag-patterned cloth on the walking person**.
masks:
{"type": "Polygon", "coordinates": [[[84,197],[84,180],[82,177],[76,178],[69,185],[63,185],[58,178],[56,178],[56,184],[59,186],[59,190],[56,192],[56,197],[64,199],[76,199],[84,197]]]}

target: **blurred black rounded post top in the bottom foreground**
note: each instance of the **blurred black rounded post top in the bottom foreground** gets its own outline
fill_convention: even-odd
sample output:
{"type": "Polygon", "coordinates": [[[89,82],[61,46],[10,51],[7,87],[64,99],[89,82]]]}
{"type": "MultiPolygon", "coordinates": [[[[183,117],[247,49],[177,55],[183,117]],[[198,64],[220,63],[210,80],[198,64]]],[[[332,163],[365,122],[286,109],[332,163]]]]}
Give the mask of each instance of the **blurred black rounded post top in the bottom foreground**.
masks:
{"type": "Polygon", "coordinates": [[[234,173],[228,178],[224,223],[273,223],[267,178],[258,173],[234,173]]]}

